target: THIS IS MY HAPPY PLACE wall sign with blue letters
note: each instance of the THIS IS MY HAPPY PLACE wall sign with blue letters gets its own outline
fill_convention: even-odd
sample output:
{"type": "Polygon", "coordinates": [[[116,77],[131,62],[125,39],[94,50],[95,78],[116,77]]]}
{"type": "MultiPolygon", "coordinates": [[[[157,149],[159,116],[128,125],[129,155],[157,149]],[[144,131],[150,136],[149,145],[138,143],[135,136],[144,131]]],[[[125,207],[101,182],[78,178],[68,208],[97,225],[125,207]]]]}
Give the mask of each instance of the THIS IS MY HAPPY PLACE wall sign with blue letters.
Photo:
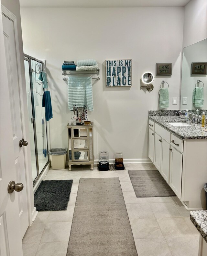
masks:
{"type": "Polygon", "coordinates": [[[132,60],[106,60],[106,87],[132,86],[132,60]]]}

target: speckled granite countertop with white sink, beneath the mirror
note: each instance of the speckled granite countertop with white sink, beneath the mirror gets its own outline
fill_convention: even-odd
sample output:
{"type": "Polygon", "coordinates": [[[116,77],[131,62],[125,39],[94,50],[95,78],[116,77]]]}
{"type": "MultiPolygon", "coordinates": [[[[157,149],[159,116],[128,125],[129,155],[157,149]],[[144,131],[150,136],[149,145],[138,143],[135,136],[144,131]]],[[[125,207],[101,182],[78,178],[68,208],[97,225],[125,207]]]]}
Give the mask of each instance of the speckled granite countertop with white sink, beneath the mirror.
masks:
{"type": "Polygon", "coordinates": [[[169,132],[177,135],[182,139],[207,139],[207,132],[203,131],[201,124],[195,124],[188,122],[191,126],[172,126],[169,122],[186,122],[185,119],[180,118],[179,116],[167,115],[167,116],[158,116],[158,115],[149,115],[150,120],[158,123],[169,132]]]}

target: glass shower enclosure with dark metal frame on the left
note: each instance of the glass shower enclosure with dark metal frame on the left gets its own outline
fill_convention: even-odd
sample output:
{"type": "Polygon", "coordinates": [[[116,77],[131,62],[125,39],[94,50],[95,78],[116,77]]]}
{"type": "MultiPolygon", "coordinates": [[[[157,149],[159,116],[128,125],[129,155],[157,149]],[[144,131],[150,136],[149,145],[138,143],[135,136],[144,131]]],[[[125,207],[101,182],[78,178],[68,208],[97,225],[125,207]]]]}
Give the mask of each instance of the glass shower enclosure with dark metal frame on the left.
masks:
{"type": "Polygon", "coordinates": [[[38,79],[42,61],[24,54],[29,119],[30,151],[33,185],[37,182],[48,160],[45,108],[42,107],[43,87],[38,79]]]}

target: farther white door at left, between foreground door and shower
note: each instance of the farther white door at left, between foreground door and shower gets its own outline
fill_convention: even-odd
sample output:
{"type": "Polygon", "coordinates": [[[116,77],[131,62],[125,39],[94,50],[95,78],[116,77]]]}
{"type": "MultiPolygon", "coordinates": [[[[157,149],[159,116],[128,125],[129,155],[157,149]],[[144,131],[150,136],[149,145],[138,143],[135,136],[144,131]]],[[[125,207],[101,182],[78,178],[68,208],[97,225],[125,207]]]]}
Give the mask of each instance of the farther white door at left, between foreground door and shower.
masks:
{"type": "Polygon", "coordinates": [[[16,167],[16,180],[21,182],[25,189],[17,193],[19,203],[19,218],[21,224],[21,238],[23,238],[28,226],[28,207],[27,207],[27,190],[26,190],[26,173],[24,161],[24,146],[20,147],[19,142],[22,141],[22,124],[21,124],[21,108],[20,108],[20,86],[17,69],[17,53],[14,34],[14,22],[2,15],[4,30],[4,45],[6,54],[6,69],[9,85],[9,103],[12,118],[12,136],[14,144],[14,162],[16,167]]]}

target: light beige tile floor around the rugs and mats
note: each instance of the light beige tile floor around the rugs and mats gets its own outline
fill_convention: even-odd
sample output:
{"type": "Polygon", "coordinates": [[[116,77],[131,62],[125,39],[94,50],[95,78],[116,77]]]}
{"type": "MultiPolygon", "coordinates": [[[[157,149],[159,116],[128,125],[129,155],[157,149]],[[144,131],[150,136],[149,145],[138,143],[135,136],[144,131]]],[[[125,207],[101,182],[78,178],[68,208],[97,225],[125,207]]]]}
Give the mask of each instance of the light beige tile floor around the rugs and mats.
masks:
{"type": "Polygon", "coordinates": [[[136,198],[127,170],[155,170],[155,166],[125,164],[125,168],[107,172],[97,172],[97,167],[91,171],[89,166],[72,166],[71,172],[50,169],[45,180],[73,179],[68,208],[38,212],[22,240],[24,256],[66,256],[79,179],[101,177],[119,177],[138,256],[197,256],[199,232],[177,197],[136,198]]]}

